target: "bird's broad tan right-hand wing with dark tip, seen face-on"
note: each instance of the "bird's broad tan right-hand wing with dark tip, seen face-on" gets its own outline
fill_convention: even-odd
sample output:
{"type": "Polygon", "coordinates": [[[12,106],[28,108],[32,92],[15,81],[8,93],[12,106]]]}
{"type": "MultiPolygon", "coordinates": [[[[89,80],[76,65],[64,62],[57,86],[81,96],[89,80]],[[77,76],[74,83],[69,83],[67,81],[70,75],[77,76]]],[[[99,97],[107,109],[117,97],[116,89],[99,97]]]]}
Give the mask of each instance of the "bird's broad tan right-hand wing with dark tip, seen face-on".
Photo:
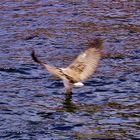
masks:
{"type": "Polygon", "coordinates": [[[102,42],[92,45],[93,46],[81,53],[74,62],[64,70],[64,73],[73,77],[77,82],[90,77],[95,72],[101,58],[102,42]]]}

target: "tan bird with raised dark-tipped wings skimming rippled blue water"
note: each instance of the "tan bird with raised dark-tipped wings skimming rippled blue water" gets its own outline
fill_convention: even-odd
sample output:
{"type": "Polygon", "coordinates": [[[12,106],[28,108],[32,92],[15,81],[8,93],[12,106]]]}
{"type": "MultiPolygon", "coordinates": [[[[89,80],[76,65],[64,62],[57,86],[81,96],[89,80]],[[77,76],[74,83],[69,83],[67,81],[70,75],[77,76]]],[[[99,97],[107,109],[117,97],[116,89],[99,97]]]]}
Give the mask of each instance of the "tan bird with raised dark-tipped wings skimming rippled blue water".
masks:
{"type": "Polygon", "coordinates": [[[82,87],[84,80],[92,76],[101,59],[103,50],[103,40],[95,38],[88,43],[88,48],[81,52],[76,59],[66,68],[58,68],[48,63],[42,62],[34,50],[31,52],[32,59],[44,66],[48,72],[63,80],[65,93],[72,93],[73,87],[82,87]]]}

